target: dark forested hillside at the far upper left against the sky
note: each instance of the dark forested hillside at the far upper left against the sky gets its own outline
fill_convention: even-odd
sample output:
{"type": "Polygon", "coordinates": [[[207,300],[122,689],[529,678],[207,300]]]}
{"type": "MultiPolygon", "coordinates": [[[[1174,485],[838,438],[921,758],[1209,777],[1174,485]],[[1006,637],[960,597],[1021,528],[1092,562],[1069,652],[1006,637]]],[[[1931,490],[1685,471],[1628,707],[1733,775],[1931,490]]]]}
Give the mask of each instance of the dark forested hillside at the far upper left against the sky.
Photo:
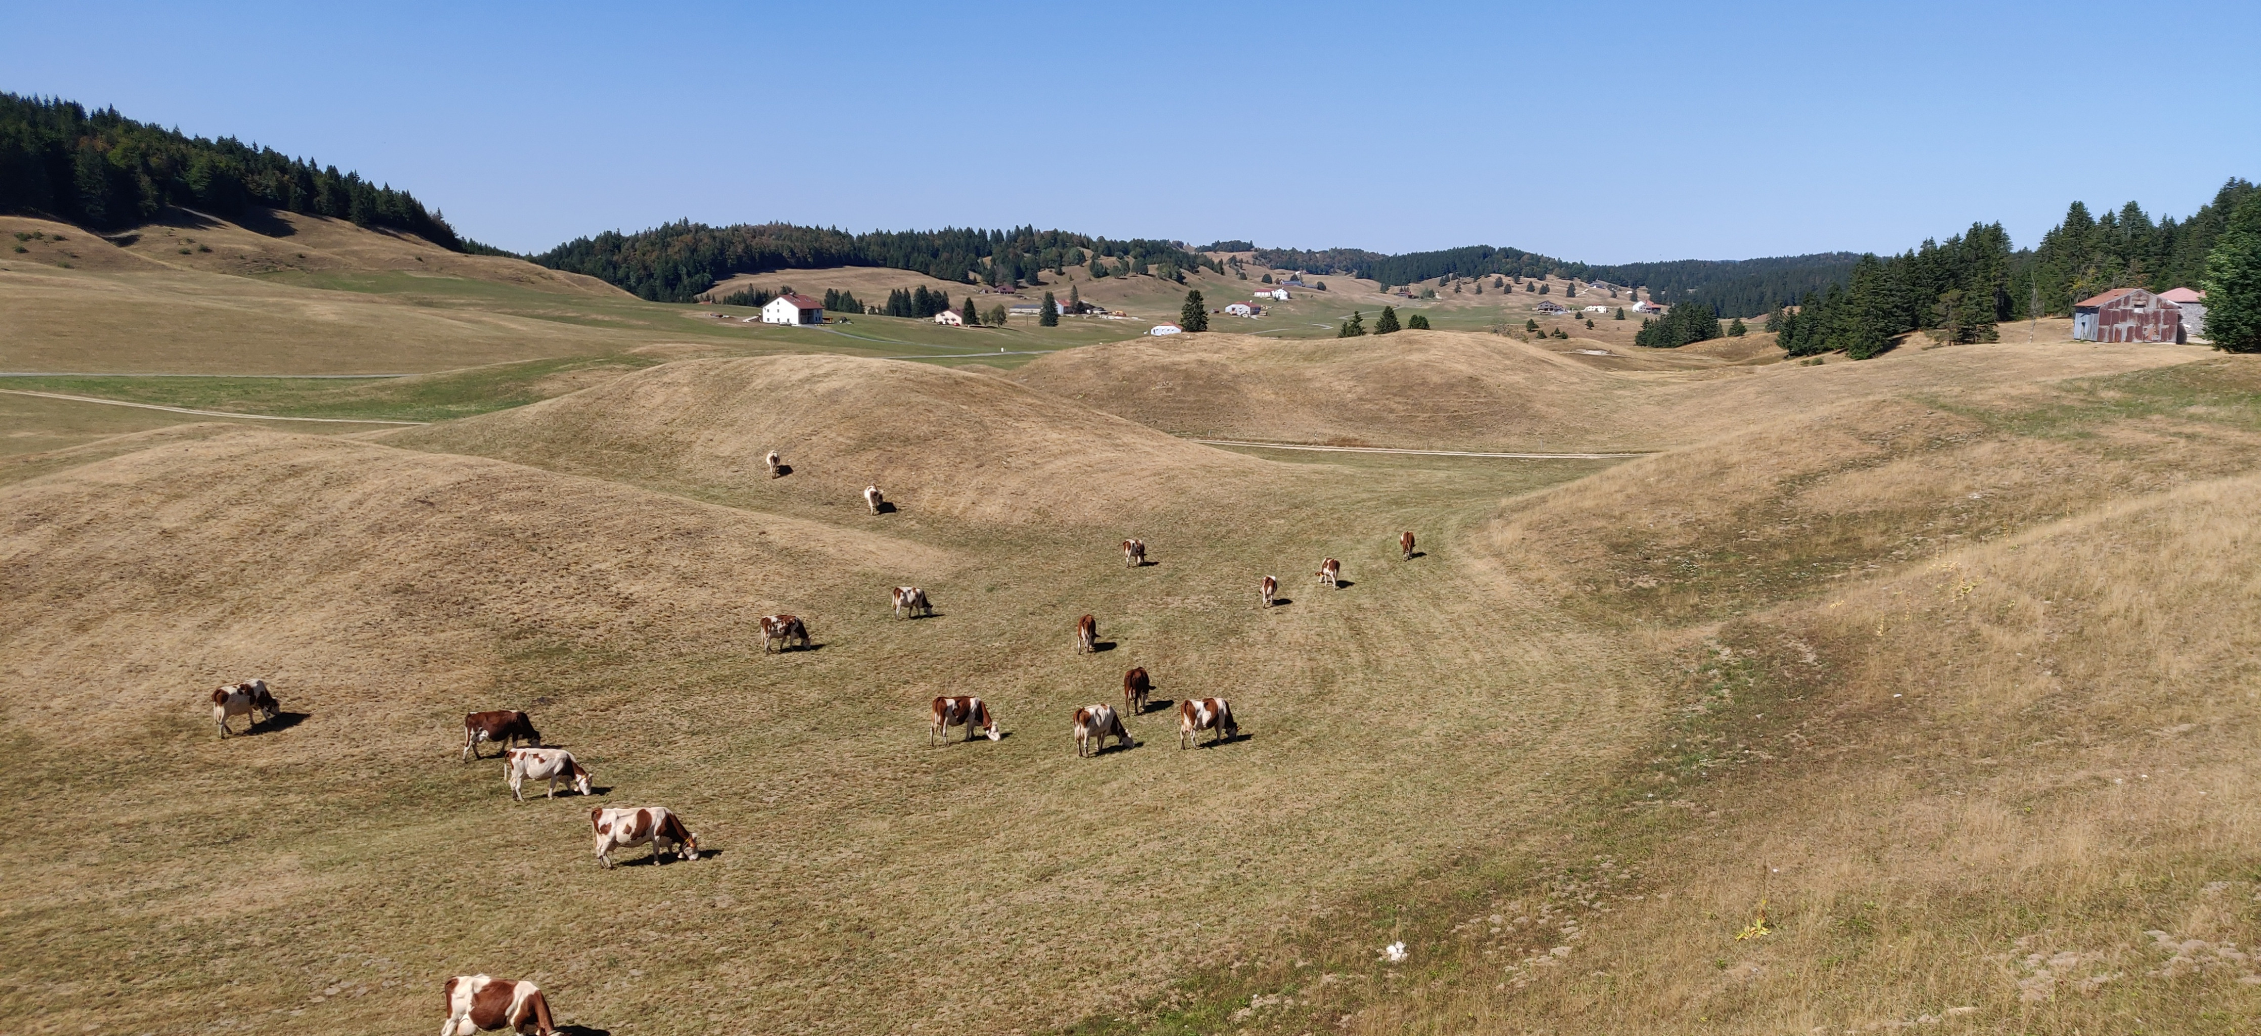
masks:
{"type": "Polygon", "coordinates": [[[118,231],[167,206],[228,219],[283,208],[407,231],[450,251],[495,251],[459,238],[414,195],[357,172],[133,122],[118,109],[88,113],[77,102],[0,93],[0,213],[118,231]]]}

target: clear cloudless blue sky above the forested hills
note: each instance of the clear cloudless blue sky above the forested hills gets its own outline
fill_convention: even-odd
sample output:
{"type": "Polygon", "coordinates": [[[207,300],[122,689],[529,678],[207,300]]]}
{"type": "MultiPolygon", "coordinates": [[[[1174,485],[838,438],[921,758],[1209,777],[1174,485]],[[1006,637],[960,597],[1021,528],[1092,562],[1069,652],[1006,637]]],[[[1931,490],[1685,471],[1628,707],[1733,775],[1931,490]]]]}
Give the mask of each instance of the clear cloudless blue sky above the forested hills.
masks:
{"type": "Polygon", "coordinates": [[[2261,5],[29,5],[0,90],[667,219],[1589,262],[1897,251],[2261,179],[2261,5]]]}

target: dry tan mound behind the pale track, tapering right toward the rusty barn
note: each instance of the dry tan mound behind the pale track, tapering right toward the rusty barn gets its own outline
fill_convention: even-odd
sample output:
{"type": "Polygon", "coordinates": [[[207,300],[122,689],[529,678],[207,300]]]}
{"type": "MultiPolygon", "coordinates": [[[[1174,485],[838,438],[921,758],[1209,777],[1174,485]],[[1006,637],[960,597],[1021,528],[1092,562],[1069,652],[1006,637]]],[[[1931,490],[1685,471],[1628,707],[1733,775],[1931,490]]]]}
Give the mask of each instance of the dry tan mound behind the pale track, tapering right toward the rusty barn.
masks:
{"type": "Polygon", "coordinates": [[[1275,342],[1173,335],[1040,357],[1013,380],[1176,434],[1465,450],[1655,450],[1782,414],[1965,394],[2207,355],[2198,346],[1990,344],[1822,366],[1610,371],[1506,335],[1275,342]]]}

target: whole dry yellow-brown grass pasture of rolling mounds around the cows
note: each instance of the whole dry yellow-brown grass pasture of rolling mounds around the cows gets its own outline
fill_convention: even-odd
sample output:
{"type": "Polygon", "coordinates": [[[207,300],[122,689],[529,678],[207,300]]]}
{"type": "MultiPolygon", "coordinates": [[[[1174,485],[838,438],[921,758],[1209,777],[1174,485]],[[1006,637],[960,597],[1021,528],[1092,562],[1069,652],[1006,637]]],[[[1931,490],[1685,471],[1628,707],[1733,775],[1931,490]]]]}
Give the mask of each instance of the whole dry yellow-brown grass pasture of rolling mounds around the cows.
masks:
{"type": "Polygon", "coordinates": [[[0,366],[423,360],[23,385],[430,423],[0,394],[11,1031],[407,1031],[468,970],[622,1036],[2261,1020],[2245,357],[1219,333],[979,371],[176,231],[215,267],[0,271],[50,364],[0,366]],[[72,353],[95,292],[170,301],[72,353]],[[303,317],[140,342],[289,301],[436,323],[371,357],[303,317]],[[895,584],[938,615],[893,620],[895,584]],[[764,654],[773,611],[814,649],[764,654]],[[1130,665],[1244,737],[1180,751],[1151,713],[1076,758],[1069,713],[1130,665]],[[285,715],[215,737],[199,697],[249,676],[285,715]],[[934,694],[1006,737],[927,746],[934,694]],[[459,762],[482,708],[534,713],[592,801],[459,762]],[[592,803],[669,805],[712,855],[601,871],[592,803]]]}

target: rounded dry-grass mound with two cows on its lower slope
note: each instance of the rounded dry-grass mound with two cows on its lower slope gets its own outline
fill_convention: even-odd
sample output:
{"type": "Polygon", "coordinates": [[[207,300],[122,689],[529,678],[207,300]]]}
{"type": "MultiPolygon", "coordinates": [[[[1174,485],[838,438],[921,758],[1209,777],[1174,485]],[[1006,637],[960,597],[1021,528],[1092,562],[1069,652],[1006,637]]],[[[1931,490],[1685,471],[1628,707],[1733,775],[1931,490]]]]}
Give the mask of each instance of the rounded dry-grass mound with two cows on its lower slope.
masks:
{"type": "Polygon", "coordinates": [[[995,375],[837,355],[685,360],[389,441],[764,509],[861,511],[877,484],[911,516],[1013,525],[1124,523],[1273,470],[995,375]]]}

